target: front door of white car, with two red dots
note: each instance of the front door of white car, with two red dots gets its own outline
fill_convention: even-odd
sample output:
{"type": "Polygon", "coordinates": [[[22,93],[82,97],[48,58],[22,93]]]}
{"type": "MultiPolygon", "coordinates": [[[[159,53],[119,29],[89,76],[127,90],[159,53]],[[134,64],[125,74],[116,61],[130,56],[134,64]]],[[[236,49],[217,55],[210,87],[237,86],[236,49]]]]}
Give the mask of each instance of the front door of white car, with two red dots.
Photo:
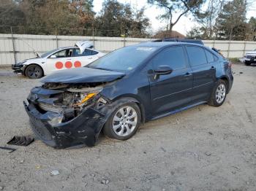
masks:
{"type": "Polygon", "coordinates": [[[65,48],[48,56],[48,58],[46,58],[45,74],[48,75],[53,71],[73,68],[73,51],[73,48],[65,48]]]}

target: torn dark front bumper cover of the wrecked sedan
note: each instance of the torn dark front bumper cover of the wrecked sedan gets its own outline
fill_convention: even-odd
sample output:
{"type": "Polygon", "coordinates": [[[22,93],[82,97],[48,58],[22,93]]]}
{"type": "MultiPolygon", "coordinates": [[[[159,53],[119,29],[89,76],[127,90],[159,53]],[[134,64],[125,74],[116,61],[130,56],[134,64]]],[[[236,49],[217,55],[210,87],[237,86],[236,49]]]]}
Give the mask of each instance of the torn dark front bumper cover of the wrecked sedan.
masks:
{"type": "Polygon", "coordinates": [[[29,114],[31,129],[45,144],[57,149],[75,147],[86,144],[93,147],[99,136],[99,132],[105,123],[105,115],[89,108],[78,117],[57,125],[50,125],[50,120],[56,116],[54,112],[40,113],[34,104],[23,102],[26,112],[29,114]]]}

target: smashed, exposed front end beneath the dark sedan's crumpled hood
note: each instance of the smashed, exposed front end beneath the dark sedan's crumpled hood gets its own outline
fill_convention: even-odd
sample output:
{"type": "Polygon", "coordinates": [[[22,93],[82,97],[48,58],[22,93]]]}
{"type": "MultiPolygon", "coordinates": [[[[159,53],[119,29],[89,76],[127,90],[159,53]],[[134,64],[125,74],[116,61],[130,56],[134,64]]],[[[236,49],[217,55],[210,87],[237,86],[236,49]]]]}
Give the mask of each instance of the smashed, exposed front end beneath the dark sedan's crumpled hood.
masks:
{"type": "Polygon", "coordinates": [[[101,109],[108,103],[105,98],[99,95],[104,84],[45,83],[42,87],[34,87],[28,99],[34,101],[40,112],[59,113],[59,116],[62,116],[61,122],[67,122],[77,117],[89,106],[101,109]]]}

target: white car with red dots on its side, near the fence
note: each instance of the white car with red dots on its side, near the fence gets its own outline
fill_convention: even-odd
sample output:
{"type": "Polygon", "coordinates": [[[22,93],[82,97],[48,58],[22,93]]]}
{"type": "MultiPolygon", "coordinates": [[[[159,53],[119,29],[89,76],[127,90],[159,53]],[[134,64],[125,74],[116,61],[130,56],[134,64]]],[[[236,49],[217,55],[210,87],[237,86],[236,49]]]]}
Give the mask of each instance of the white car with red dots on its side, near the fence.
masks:
{"type": "Polygon", "coordinates": [[[12,69],[15,73],[21,73],[32,79],[41,78],[53,71],[86,66],[105,55],[93,48],[92,42],[77,42],[75,47],[60,47],[51,50],[37,58],[14,64],[12,69]]]}

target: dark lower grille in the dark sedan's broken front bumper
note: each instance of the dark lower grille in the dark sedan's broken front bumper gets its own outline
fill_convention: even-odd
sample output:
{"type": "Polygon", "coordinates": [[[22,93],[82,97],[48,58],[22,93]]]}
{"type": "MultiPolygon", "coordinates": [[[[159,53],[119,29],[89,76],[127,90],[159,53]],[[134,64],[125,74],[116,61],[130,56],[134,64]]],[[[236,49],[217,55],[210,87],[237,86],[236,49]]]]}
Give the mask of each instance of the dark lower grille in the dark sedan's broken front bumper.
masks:
{"type": "Polygon", "coordinates": [[[52,135],[40,120],[38,120],[36,117],[34,117],[31,114],[29,114],[29,119],[31,123],[31,128],[32,130],[34,130],[34,133],[36,133],[36,135],[39,136],[39,139],[42,139],[45,141],[52,140],[52,135]]]}

